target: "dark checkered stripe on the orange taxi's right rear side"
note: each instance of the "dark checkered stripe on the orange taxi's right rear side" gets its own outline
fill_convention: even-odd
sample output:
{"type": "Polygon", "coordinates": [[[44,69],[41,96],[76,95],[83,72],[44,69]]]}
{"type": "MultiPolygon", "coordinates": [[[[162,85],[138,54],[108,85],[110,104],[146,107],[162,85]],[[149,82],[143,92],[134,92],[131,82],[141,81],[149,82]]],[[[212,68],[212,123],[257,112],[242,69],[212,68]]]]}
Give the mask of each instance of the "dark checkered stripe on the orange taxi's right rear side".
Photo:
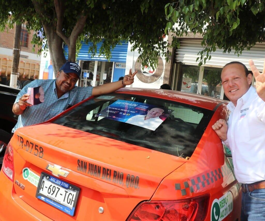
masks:
{"type": "Polygon", "coordinates": [[[187,189],[189,189],[190,193],[193,193],[195,192],[195,190],[196,191],[200,190],[218,181],[219,179],[223,178],[223,176],[228,175],[229,172],[230,170],[227,167],[227,165],[224,165],[222,167],[222,170],[221,168],[218,168],[216,170],[210,171],[206,174],[203,174],[189,181],[185,181],[184,183],[181,183],[183,185],[180,185],[180,183],[175,183],[175,190],[180,190],[182,196],[185,196],[187,195],[187,189]]]}

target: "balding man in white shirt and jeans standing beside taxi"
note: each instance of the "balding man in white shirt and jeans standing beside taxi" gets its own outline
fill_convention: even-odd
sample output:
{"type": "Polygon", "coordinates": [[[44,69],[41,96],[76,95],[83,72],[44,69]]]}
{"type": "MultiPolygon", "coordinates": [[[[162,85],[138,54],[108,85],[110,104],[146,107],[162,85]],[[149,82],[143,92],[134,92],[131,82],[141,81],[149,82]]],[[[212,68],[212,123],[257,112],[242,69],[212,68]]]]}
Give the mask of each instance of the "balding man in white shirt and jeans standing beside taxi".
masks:
{"type": "Polygon", "coordinates": [[[212,128],[231,149],[235,176],[242,183],[241,220],[265,220],[265,61],[256,79],[240,62],[226,64],[221,73],[224,93],[231,101],[228,125],[219,119],[212,128]]]}

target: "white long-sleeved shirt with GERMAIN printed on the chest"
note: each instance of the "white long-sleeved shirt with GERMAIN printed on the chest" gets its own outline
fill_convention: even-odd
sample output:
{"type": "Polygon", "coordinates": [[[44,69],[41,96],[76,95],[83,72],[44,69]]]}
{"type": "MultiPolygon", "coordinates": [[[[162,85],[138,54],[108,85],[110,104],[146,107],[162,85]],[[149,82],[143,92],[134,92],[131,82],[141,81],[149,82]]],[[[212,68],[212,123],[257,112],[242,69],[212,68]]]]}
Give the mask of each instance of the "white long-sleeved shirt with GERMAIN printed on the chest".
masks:
{"type": "Polygon", "coordinates": [[[251,86],[236,107],[232,102],[227,107],[224,144],[231,149],[236,179],[244,184],[265,180],[265,102],[251,86]]]}

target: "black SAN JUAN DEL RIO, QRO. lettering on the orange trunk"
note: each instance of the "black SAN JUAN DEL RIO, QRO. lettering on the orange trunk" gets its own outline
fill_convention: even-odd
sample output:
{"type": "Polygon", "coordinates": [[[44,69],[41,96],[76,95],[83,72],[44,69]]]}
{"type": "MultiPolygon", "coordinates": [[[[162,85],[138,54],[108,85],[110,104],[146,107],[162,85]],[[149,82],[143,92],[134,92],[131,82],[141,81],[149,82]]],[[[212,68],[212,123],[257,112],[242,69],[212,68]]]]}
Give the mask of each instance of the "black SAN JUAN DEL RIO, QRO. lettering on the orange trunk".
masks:
{"type": "Polygon", "coordinates": [[[77,160],[77,171],[103,180],[112,181],[112,183],[116,183],[121,186],[126,185],[127,188],[139,189],[139,176],[131,174],[127,174],[125,176],[123,172],[111,170],[80,159],[77,160]]]}

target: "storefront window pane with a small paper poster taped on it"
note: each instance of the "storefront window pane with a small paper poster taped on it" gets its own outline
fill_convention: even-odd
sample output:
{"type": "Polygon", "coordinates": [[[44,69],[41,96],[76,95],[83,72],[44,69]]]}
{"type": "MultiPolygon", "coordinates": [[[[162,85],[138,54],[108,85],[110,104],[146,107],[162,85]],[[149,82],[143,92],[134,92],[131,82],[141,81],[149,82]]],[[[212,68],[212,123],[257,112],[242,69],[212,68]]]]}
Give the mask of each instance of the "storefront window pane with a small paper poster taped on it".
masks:
{"type": "Polygon", "coordinates": [[[178,90],[197,93],[200,69],[197,66],[180,65],[178,90]]]}

